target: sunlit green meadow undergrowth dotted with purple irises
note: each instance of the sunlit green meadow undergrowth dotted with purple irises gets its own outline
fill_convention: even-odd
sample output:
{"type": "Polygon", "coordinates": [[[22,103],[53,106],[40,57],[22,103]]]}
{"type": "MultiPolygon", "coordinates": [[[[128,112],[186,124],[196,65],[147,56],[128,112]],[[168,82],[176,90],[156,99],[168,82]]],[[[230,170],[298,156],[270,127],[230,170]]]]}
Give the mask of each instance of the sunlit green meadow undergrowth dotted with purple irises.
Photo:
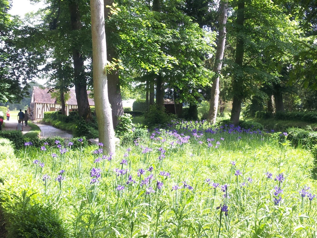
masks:
{"type": "Polygon", "coordinates": [[[18,159],[0,161],[7,229],[42,224],[55,232],[50,237],[62,237],[58,230],[63,237],[312,237],[313,157],[280,134],[175,122],[115,156],[80,141],[76,149],[26,145],[18,159]],[[25,213],[36,224],[18,223],[25,213]]]}

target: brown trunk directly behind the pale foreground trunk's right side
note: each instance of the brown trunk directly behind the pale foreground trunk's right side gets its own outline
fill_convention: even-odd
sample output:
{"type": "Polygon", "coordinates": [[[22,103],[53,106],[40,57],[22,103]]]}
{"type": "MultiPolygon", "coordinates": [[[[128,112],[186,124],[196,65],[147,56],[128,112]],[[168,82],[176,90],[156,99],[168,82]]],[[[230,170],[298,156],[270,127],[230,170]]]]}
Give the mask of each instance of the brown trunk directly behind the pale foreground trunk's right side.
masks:
{"type": "MultiPolygon", "coordinates": [[[[113,0],[104,0],[104,14],[105,17],[110,17],[110,8],[106,6],[112,6],[113,0]]],[[[112,61],[112,58],[117,59],[118,55],[116,53],[115,44],[112,42],[113,32],[115,29],[110,27],[108,24],[105,26],[106,30],[106,43],[107,43],[107,59],[112,61]]],[[[112,109],[112,122],[113,128],[118,125],[118,117],[123,115],[123,104],[120,90],[120,80],[119,80],[119,70],[113,70],[110,74],[107,75],[108,80],[108,96],[109,102],[112,109]]]]}

